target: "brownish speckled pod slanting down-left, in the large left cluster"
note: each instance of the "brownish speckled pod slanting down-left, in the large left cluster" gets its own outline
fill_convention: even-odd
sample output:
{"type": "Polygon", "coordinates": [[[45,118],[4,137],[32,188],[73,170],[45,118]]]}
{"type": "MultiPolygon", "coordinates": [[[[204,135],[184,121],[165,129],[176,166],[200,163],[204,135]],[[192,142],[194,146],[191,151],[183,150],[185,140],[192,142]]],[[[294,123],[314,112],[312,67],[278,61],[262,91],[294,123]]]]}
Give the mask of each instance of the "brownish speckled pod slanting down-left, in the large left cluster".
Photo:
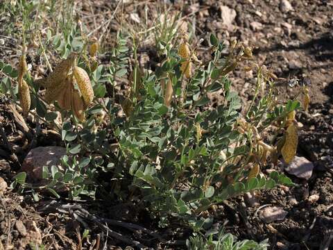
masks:
{"type": "Polygon", "coordinates": [[[72,52],[67,59],[62,60],[54,69],[53,72],[46,76],[45,78],[38,79],[35,81],[37,85],[42,85],[45,88],[58,88],[60,83],[63,83],[69,69],[74,65],[77,54],[72,52]]]}

